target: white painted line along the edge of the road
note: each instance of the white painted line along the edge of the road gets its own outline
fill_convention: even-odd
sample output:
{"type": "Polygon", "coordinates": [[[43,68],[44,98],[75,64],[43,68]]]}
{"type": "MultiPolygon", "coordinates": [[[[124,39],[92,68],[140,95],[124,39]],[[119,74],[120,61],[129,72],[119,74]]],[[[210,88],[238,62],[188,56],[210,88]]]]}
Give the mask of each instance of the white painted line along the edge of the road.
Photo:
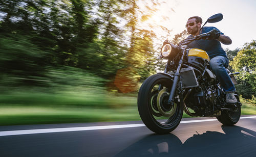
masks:
{"type": "MultiPolygon", "coordinates": [[[[241,117],[240,119],[256,118],[256,116],[241,117]]],[[[217,119],[202,119],[202,120],[187,120],[180,123],[196,123],[206,121],[216,121],[217,119]]],[[[28,129],[28,130],[11,130],[0,132],[0,136],[11,135],[27,135],[27,134],[42,134],[42,133],[60,133],[60,132],[75,132],[85,130],[111,129],[111,128],[126,128],[126,127],[141,127],[144,124],[127,124],[127,125],[106,125],[106,126],[86,126],[86,127],[63,127],[63,128],[43,128],[43,129],[28,129]]]]}

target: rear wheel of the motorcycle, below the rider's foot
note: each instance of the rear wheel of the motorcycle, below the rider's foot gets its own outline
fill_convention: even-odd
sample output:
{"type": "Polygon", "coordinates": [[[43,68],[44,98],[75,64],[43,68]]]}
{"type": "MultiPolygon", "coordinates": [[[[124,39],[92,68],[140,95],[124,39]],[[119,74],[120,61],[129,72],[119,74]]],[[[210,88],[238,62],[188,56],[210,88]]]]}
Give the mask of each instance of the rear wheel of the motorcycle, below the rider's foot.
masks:
{"type": "MultiPolygon", "coordinates": [[[[236,96],[238,102],[240,102],[239,97],[236,96]]],[[[241,116],[241,106],[234,108],[234,112],[231,111],[222,111],[221,115],[217,117],[219,122],[225,125],[234,125],[236,124],[241,116]]]]}

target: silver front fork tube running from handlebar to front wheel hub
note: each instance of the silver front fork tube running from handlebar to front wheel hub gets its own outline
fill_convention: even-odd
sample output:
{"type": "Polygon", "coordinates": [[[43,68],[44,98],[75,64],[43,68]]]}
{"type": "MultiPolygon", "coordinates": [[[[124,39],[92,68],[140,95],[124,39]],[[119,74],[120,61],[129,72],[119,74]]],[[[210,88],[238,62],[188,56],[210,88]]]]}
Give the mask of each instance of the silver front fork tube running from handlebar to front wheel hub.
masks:
{"type": "Polygon", "coordinates": [[[178,68],[177,68],[177,71],[176,73],[174,74],[174,81],[173,81],[173,86],[172,86],[172,89],[170,90],[170,95],[169,95],[169,98],[168,98],[168,104],[170,105],[173,105],[174,104],[174,95],[176,93],[176,88],[177,88],[177,85],[180,81],[180,69],[181,69],[181,66],[183,64],[183,59],[184,59],[184,56],[185,56],[185,53],[186,52],[186,48],[182,50],[182,58],[179,62],[179,65],[178,65],[178,68]]]}

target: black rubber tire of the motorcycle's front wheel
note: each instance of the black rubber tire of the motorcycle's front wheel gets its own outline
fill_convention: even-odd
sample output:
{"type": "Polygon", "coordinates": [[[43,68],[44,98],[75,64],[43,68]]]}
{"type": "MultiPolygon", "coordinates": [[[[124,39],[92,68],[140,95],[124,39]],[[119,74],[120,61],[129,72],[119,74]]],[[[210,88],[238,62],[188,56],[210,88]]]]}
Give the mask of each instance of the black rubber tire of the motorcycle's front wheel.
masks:
{"type": "MultiPolygon", "coordinates": [[[[173,80],[163,74],[155,74],[148,77],[141,85],[138,93],[138,110],[141,120],[150,130],[157,134],[168,134],[169,132],[172,132],[181,121],[183,115],[183,103],[182,101],[178,102],[176,100],[176,108],[168,108],[166,98],[163,100],[161,99],[163,106],[167,107],[170,111],[173,110],[174,114],[170,117],[163,117],[161,114],[156,116],[156,111],[152,111],[153,105],[151,103],[152,93],[158,91],[159,85],[169,91],[173,85],[173,80]],[[164,118],[167,120],[164,120],[164,118]]],[[[182,97],[180,98],[182,99],[182,97]]]]}

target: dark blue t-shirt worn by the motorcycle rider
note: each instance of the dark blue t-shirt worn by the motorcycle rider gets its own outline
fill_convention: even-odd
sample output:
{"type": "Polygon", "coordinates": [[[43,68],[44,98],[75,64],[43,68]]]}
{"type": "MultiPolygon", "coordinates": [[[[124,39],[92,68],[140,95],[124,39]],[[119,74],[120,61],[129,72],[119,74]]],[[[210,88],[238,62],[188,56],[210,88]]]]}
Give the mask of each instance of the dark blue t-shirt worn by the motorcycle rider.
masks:
{"type": "MultiPolygon", "coordinates": [[[[209,32],[213,29],[218,30],[215,27],[203,27],[202,28],[202,33],[206,33],[209,32]]],[[[219,30],[218,30],[219,31],[219,30]]],[[[223,33],[221,33],[223,34],[223,33]]],[[[193,37],[192,35],[188,36],[189,37],[193,37]]],[[[225,50],[221,47],[221,42],[218,40],[194,40],[192,42],[190,42],[189,44],[187,44],[187,46],[189,48],[200,48],[206,51],[206,53],[208,54],[208,56],[210,57],[210,59],[216,57],[216,56],[226,56],[226,52],[225,50]]]]}

